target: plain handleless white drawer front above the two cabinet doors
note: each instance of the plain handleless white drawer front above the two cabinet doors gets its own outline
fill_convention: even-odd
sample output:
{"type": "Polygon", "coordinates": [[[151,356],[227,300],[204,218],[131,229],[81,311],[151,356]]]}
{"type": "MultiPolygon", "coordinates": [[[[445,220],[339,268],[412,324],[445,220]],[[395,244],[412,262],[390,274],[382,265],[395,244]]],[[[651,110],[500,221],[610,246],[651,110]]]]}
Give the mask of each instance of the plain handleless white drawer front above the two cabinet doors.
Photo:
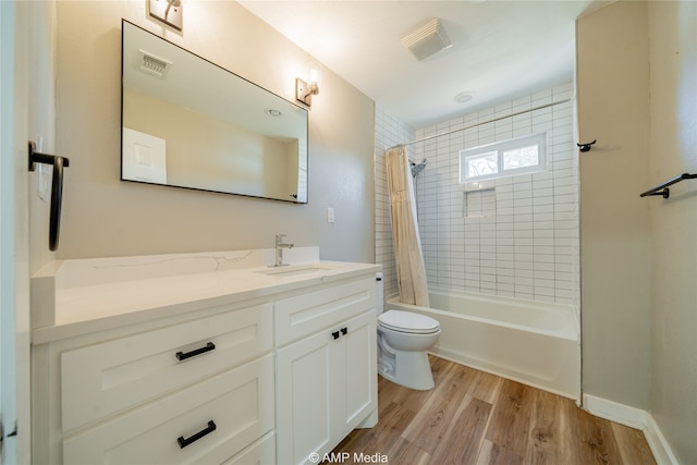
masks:
{"type": "Polygon", "coordinates": [[[375,277],[332,285],[276,303],[276,342],[284,345],[375,309],[375,277]]]}

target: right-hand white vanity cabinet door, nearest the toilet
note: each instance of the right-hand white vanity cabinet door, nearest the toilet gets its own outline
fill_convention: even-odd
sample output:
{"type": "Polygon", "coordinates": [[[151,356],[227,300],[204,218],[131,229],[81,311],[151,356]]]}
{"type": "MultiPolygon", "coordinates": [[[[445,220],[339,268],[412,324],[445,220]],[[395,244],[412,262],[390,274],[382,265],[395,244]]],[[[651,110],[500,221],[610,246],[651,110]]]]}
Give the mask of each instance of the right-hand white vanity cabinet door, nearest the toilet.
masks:
{"type": "Polygon", "coordinates": [[[332,379],[332,436],[337,442],[378,406],[376,316],[374,311],[352,318],[340,328],[341,351],[332,365],[342,368],[332,379]]]}

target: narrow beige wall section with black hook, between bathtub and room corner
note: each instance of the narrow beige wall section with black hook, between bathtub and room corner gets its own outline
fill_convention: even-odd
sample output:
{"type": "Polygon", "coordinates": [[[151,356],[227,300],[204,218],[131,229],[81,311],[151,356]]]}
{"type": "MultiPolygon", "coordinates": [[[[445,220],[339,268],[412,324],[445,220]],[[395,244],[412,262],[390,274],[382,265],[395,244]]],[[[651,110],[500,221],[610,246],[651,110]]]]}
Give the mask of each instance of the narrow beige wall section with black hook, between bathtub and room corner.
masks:
{"type": "Polygon", "coordinates": [[[651,231],[646,2],[577,22],[584,393],[649,408],[651,231]]]}

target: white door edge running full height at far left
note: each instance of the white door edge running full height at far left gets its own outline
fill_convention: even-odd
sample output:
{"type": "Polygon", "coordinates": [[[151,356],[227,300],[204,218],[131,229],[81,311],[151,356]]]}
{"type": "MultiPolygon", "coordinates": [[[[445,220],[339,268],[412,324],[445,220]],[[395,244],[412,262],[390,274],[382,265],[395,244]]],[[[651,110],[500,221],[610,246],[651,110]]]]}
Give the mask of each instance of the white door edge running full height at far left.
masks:
{"type": "Polygon", "coordinates": [[[26,2],[0,1],[0,463],[29,463],[26,2]]]}

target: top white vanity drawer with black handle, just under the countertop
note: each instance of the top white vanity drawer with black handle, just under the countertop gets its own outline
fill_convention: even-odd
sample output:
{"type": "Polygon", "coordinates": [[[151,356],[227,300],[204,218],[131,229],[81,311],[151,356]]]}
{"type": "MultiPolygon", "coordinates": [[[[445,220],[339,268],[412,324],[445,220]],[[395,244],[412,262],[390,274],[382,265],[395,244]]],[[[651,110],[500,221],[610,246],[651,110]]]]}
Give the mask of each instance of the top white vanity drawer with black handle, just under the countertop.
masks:
{"type": "Polygon", "coordinates": [[[272,304],[268,303],[63,352],[63,431],[270,351],[272,318],[272,304]],[[198,355],[188,356],[197,351],[198,355]]]}

